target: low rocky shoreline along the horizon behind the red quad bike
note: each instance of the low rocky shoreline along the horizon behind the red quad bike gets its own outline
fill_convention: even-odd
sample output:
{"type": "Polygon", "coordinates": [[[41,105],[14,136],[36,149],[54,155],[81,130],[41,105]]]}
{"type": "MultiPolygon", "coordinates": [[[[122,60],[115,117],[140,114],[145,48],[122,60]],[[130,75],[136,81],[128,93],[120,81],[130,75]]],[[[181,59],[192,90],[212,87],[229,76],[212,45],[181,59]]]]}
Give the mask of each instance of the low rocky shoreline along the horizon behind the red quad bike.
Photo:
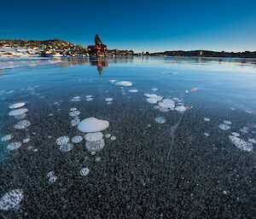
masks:
{"type": "MultiPolygon", "coordinates": [[[[19,56],[20,48],[26,48],[27,55],[42,55],[42,56],[88,56],[88,49],[81,45],[61,40],[23,40],[23,39],[0,39],[0,56],[13,55],[19,56]],[[2,49],[1,49],[2,48],[2,49]],[[4,49],[12,48],[17,52],[10,52],[4,49]]],[[[24,54],[24,50],[23,50],[24,54]]],[[[256,58],[256,51],[244,52],[215,52],[209,50],[175,50],[156,53],[134,53],[132,50],[108,49],[108,55],[166,55],[166,56],[201,56],[201,57],[233,57],[233,58],[256,58]]]]}

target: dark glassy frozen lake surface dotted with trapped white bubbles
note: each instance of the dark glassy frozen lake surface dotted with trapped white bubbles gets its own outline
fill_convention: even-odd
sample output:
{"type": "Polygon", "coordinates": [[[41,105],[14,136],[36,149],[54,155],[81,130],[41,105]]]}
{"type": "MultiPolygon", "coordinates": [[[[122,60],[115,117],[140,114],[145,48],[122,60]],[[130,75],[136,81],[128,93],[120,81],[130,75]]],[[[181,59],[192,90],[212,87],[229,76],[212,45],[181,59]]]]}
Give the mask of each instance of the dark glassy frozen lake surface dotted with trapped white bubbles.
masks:
{"type": "Polygon", "coordinates": [[[0,60],[3,218],[253,218],[255,152],[256,60],[0,60]]]}

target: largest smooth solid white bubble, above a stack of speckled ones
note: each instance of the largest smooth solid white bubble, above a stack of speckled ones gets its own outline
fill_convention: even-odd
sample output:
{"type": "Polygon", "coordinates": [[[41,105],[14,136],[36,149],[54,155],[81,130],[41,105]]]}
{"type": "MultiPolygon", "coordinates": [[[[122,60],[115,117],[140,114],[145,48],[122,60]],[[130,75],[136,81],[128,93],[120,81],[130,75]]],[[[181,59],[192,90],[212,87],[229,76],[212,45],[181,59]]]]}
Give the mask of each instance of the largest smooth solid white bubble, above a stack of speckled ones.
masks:
{"type": "Polygon", "coordinates": [[[85,118],[78,125],[78,129],[82,132],[97,132],[108,129],[109,123],[106,120],[90,117],[85,118]]]}

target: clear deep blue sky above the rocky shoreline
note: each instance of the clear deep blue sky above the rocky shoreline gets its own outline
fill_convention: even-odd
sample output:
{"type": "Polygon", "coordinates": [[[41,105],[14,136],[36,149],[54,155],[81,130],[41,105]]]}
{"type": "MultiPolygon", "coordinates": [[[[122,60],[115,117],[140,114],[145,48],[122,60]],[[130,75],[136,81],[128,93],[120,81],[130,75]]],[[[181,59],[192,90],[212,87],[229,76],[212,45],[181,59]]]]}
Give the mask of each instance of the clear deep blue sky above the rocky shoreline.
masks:
{"type": "Polygon", "coordinates": [[[256,50],[256,0],[33,0],[0,3],[0,38],[108,49],[256,50]]]}

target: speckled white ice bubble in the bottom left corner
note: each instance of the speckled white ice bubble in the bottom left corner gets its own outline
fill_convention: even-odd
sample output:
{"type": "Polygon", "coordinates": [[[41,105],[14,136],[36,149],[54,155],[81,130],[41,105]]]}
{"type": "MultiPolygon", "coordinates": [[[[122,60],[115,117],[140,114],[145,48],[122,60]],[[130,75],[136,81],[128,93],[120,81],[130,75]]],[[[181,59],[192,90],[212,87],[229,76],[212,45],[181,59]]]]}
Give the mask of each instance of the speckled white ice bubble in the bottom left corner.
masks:
{"type": "Polygon", "coordinates": [[[21,189],[13,189],[9,193],[5,193],[0,199],[0,209],[9,210],[20,204],[20,201],[24,198],[23,191],[21,189]]]}

